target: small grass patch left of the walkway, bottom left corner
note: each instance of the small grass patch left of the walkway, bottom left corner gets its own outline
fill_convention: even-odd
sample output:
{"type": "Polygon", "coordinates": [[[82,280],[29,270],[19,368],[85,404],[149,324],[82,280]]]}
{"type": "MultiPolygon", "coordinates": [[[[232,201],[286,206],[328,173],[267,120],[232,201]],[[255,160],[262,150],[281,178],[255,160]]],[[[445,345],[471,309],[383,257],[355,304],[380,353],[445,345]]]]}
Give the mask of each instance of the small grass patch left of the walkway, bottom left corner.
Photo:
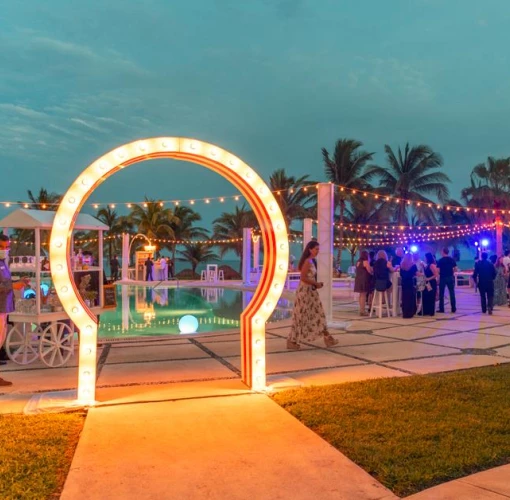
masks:
{"type": "Polygon", "coordinates": [[[0,498],[59,498],[84,413],[0,415],[0,498]]]}

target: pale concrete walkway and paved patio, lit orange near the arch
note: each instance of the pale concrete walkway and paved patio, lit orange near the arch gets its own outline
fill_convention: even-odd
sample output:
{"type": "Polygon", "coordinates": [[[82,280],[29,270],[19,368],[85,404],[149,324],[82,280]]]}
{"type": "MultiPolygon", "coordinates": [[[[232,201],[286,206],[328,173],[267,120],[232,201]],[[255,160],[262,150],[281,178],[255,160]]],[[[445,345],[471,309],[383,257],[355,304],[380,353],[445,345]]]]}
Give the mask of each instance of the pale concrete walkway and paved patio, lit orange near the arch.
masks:
{"type": "MultiPolygon", "coordinates": [[[[268,385],[276,388],[409,376],[510,362],[510,309],[479,312],[472,290],[433,318],[363,318],[336,296],[339,344],[285,348],[289,322],[268,325],[268,385]]],[[[396,498],[267,396],[239,380],[239,334],[105,342],[98,406],[89,411],[63,498],[396,498]],[[248,483],[248,486],[245,486],[248,483]]],[[[34,393],[75,389],[76,364],[3,367],[15,385],[3,412],[34,393]]],[[[510,498],[510,466],[414,495],[510,498]],[[507,485],[508,483],[508,485],[507,485]]]]}

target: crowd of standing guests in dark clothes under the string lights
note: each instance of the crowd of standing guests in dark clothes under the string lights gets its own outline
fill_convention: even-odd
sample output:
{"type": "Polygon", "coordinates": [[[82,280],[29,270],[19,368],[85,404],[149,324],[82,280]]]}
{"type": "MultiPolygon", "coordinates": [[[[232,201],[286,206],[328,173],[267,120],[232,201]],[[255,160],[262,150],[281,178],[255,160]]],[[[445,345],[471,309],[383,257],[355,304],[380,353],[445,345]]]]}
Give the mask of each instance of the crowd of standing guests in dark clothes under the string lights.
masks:
{"type": "MultiPolygon", "coordinates": [[[[480,293],[482,312],[492,314],[494,306],[508,304],[510,307],[510,251],[504,256],[491,255],[490,258],[483,252],[475,261],[472,280],[480,293]]],[[[447,247],[443,248],[437,261],[430,252],[422,260],[419,253],[405,253],[402,248],[397,248],[391,259],[384,250],[377,253],[363,250],[356,263],[354,280],[354,291],[359,293],[359,314],[368,316],[375,291],[389,292],[385,294],[385,300],[386,297],[390,300],[391,273],[400,276],[402,317],[411,318],[417,312],[424,316],[445,313],[446,290],[450,310],[455,313],[456,271],[457,262],[447,247]]]]}

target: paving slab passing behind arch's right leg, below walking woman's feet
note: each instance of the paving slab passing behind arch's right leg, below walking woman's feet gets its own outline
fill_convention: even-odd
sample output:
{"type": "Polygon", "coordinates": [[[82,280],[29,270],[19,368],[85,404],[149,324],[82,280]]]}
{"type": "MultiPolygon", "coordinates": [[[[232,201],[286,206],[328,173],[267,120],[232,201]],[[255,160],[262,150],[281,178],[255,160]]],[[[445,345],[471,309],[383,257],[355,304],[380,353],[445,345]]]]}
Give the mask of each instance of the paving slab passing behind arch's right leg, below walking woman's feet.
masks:
{"type": "MultiPolygon", "coordinates": [[[[228,358],[229,363],[240,369],[241,358],[228,358]]],[[[327,368],[331,366],[345,366],[360,364],[347,356],[329,352],[326,349],[309,351],[293,351],[268,354],[266,356],[267,373],[281,373],[287,371],[310,370],[313,368],[327,368]]]]}

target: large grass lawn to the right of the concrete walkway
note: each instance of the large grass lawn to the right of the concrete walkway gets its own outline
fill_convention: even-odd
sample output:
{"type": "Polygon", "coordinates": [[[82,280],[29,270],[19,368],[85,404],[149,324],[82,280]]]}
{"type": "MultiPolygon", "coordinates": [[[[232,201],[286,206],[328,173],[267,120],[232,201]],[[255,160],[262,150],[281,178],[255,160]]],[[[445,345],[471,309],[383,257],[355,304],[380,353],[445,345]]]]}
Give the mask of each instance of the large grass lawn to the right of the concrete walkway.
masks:
{"type": "Polygon", "coordinates": [[[510,462],[510,365],[276,393],[400,496],[510,462]]]}

